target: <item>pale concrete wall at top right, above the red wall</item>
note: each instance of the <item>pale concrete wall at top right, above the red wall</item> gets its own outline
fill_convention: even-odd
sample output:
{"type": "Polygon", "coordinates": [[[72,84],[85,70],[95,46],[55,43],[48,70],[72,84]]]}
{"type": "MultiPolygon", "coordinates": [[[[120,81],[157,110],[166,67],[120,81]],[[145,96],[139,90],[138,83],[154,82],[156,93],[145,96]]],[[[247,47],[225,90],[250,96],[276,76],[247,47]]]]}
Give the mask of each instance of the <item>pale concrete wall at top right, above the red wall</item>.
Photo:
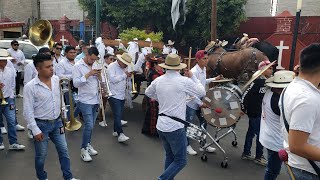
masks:
{"type": "MultiPolygon", "coordinates": [[[[271,17],[271,0],[248,0],[245,6],[247,17],[271,17]]],[[[288,10],[296,14],[297,0],[278,0],[277,14],[288,10]]],[[[320,0],[303,0],[302,16],[320,16],[320,0]]]]}

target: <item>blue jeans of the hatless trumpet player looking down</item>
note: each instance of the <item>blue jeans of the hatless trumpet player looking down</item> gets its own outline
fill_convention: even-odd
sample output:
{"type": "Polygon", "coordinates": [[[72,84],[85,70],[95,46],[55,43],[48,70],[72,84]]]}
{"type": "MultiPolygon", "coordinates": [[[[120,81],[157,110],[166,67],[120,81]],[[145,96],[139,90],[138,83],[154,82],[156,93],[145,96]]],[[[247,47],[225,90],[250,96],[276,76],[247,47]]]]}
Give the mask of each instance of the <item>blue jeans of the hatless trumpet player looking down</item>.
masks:
{"type": "Polygon", "coordinates": [[[92,129],[96,122],[95,117],[99,104],[84,104],[82,102],[78,102],[78,106],[84,121],[81,148],[86,148],[91,142],[92,129]]]}

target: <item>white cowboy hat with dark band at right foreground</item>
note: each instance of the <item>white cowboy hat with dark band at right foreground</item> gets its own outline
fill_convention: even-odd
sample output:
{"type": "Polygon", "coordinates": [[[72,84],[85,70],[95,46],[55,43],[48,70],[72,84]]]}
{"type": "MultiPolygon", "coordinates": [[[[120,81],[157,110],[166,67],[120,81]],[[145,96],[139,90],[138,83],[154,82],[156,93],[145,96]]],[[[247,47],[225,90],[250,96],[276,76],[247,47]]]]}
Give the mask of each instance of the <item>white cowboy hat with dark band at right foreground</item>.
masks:
{"type": "Polygon", "coordinates": [[[295,73],[293,71],[277,71],[274,76],[266,80],[266,85],[272,88],[285,88],[294,79],[295,73]]]}

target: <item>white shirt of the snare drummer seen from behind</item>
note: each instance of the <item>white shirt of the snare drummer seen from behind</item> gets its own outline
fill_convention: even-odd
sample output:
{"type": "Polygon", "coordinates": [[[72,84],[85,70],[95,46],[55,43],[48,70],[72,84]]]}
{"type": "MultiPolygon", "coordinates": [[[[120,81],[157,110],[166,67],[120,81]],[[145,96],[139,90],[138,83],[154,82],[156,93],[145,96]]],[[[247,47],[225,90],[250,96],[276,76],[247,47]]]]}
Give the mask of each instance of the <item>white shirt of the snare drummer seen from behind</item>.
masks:
{"type": "MultiPolygon", "coordinates": [[[[167,70],[166,74],[152,81],[145,94],[159,102],[159,114],[185,120],[187,96],[202,97],[206,91],[195,76],[190,79],[181,76],[177,71],[167,70]]],[[[159,116],[156,127],[162,132],[172,132],[184,125],[169,117],[159,116]]]]}

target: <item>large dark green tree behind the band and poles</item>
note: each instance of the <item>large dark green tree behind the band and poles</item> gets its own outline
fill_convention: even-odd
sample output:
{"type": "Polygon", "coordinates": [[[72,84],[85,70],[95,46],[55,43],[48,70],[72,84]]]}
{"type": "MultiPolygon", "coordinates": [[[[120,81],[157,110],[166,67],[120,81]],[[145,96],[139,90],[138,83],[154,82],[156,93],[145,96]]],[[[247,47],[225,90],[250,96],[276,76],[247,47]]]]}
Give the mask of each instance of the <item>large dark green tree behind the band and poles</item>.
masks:
{"type": "MultiPolygon", "coordinates": [[[[88,11],[89,19],[95,20],[95,0],[78,0],[88,11]]],[[[180,18],[176,31],[171,22],[172,0],[102,0],[101,20],[118,27],[119,31],[136,27],[147,31],[162,31],[164,39],[172,39],[181,47],[203,48],[210,39],[211,1],[188,0],[186,22],[180,18]]],[[[219,0],[217,7],[218,37],[237,32],[245,20],[243,9],[246,0],[219,0]]],[[[187,49],[187,48],[186,48],[187,49]]]]}

